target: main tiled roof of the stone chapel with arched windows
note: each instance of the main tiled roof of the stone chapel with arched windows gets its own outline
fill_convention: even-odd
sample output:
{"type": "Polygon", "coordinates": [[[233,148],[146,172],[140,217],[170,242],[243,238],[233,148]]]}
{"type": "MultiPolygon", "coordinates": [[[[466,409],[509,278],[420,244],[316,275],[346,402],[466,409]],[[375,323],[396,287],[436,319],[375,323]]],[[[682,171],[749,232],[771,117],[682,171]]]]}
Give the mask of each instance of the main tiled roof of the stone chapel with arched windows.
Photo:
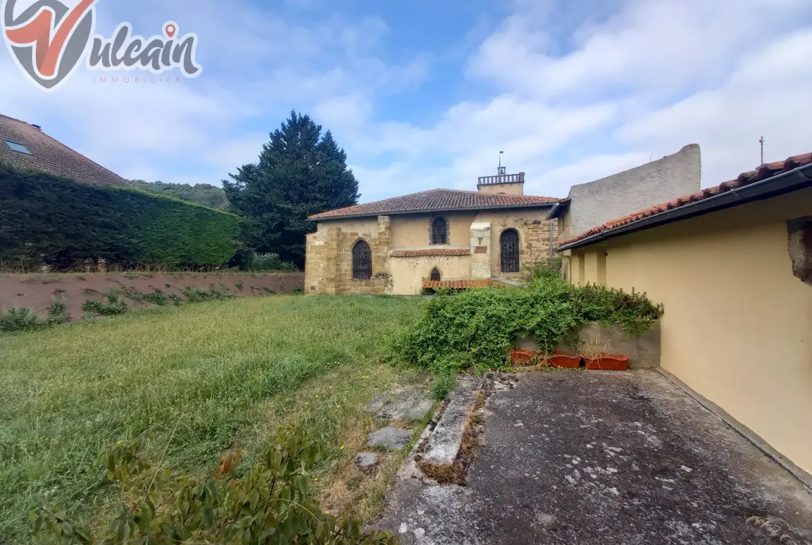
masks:
{"type": "Polygon", "coordinates": [[[486,208],[516,208],[521,206],[552,205],[559,199],[531,197],[529,195],[492,195],[457,189],[430,189],[383,201],[367,202],[314,214],[310,219],[351,218],[378,214],[408,214],[410,212],[439,212],[451,210],[480,210],[486,208]]]}

